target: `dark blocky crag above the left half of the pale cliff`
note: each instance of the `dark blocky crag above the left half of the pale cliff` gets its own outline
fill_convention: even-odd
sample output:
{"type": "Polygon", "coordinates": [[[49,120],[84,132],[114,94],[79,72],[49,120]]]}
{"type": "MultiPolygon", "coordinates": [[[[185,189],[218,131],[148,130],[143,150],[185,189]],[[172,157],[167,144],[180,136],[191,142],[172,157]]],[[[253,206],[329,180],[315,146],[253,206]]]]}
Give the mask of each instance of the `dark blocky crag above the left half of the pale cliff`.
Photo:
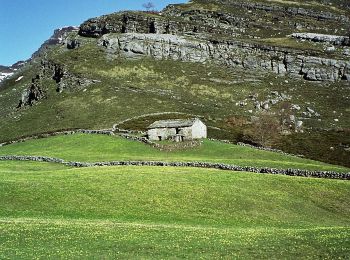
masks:
{"type": "Polygon", "coordinates": [[[163,15],[147,15],[142,12],[119,12],[89,19],[80,26],[79,34],[85,37],[101,37],[109,33],[143,34],[191,34],[210,33],[233,35],[241,31],[240,19],[228,14],[201,11],[189,13],[189,19],[174,19],[163,15]],[[211,21],[211,22],[209,22],[211,21]]]}

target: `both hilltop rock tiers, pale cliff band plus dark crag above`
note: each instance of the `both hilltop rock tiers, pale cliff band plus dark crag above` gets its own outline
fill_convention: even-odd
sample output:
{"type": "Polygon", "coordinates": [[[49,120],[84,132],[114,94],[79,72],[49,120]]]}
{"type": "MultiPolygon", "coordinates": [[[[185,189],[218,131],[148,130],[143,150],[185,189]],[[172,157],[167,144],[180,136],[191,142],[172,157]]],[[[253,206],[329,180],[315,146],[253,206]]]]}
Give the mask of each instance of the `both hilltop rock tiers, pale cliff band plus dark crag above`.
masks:
{"type": "MultiPolygon", "coordinates": [[[[348,59],[326,58],[316,51],[247,40],[259,38],[260,29],[265,33],[294,31],[300,18],[305,18],[307,28],[315,31],[327,28],[328,24],[332,28],[344,29],[350,21],[345,15],[318,11],[307,8],[307,5],[301,8],[240,0],[194,0],[186,8],[182,6],[169,5],[161,13],[152,15],[120,12],[89,19],[80,26],[79,34],[102,37],[100,43],[110,57],[151,56],[189,62],[210,61],[229,67],[289,74],[311,81],[349,80],[348,59]],[[193,3],[209,7],[196,9],[193,3]]],[[[339,45],[350,43],[349,37],[320,33],[296,33],[293,37],[339,45]]]]}

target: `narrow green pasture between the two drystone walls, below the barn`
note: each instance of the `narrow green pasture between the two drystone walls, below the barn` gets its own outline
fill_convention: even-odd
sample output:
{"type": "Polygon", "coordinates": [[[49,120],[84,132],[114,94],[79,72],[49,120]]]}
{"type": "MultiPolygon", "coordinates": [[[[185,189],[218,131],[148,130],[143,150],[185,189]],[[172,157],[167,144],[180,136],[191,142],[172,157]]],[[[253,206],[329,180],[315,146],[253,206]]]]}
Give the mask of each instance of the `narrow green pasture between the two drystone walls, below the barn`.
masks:
{"type": "Polygon", "coordinates": [[[117,136],[75,134],[30,140],[0,147],[0,155],[37,155],[68,161],[163,160],[221,162],[240,166],[298,168],[320,171],[350,169],[326,163],[256,150],[218,141],[204,140],[200,147],[164,152],[137,141],[117,136]]]}

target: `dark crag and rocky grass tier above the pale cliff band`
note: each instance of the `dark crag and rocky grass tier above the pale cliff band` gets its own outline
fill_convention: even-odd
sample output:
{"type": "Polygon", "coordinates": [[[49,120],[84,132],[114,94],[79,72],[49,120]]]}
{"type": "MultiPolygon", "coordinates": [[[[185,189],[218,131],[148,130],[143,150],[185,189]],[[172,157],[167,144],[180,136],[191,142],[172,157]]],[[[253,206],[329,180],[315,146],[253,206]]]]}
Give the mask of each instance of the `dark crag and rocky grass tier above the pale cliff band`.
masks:
{"type": "MultiPolygon", "coordinates": [[[[254,3],[228,0],[196,0],[209,9],[169,5],[159,14],[120,12],[89,19],[80,26],[79,34],[101,37],[108,33],[210,33],[232,37],[248,37],[256,29],[292,33],[296,28],[322,31],[330,28],[348,29],[350,18],[309,7],[285,6],[278,2],[254,3]],[[331,25],[331,26],[330,26],[331,25]]],[[[327,8],[329,10],[329,8],[327,8]]],[[[289,34],[290,34],[289,33],[289,34]]]]}

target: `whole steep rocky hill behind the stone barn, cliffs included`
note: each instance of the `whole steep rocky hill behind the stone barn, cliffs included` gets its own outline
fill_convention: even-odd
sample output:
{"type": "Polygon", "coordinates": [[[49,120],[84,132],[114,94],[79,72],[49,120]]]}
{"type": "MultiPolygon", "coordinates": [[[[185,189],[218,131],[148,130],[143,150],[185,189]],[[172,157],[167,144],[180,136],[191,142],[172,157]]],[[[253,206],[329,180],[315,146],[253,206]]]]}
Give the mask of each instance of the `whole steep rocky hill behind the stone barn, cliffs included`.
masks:
{"type": "Polygon", "coordinates": [[[342,1],[197,0],[90,19],[3,82],[0,139],[182,112],[251,141],[268,113],[270,145],[349,166],[349,17],[342,1]]]}

